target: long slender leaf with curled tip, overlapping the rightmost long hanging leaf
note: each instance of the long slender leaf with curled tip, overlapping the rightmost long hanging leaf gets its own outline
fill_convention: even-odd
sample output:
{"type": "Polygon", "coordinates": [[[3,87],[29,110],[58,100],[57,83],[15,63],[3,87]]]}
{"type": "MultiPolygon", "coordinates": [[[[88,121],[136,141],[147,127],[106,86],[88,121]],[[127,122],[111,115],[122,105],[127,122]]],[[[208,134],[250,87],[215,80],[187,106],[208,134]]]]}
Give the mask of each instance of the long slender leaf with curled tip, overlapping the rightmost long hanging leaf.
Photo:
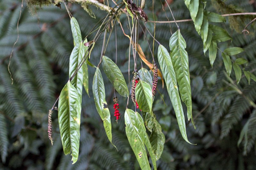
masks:
{"type": "Polygon", "coordinates": [[[180,128],[181,135],[185,139],[185,141],[191,144],[188,141],[188,137],[186,133],[185,118],[184,118],[183,108],[180,101],[176,75],[172,65],[172,59],[168,51],[166,50],[166,48],[164,48],[163,45],[159,45],[158,47],[158,62],[164,75],[166,88],[169,93],[170,99],[172,101],[172,106],[174,108],[175,115],[178,120],[178,125],[180,128]]]}

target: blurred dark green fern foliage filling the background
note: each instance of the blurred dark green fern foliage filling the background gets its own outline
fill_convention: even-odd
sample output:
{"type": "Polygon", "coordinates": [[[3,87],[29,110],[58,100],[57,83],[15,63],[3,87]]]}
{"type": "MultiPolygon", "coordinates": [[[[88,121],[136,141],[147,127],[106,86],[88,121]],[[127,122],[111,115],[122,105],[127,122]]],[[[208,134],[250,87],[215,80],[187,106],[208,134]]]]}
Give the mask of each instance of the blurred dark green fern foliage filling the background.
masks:
{"type": "MultiPolygon", "coordinates": [[[[167,8],[166,13],[162,10],[161,1],[154,2],[155,17],[158,20],[167,20],[167,16],[172,20],[167,8]]],[[[183,0],[170,1],[170,6],[177,20],[190,18],[183,0]]],[[[72,4],[70,8],[72,15],[78,20],[82,37],[106,15],[106,12],[96,11],[96,8],[91,7],[95,14],[95,18],[92,18],[79,4],[72,4]]],[[[254,0],[208,0],[206,8],[221,14],[255,12],[256,3],[254,0]]],[[[70,18],[63,4],[60,9],[53,5],[28,7],[24,3],[19,24],[19,41],[15,45],[10,63],[14,81],[11,85],[7,67],[13,44],[17,39],[20,9],[21,0],[0,1],[0,169],[139,169],[125,135],[123,115],[126,98],[118,96],[121,119],[116,123],[114,110],[111,109],[113,87],[103,74],[107,102],[113,115],[112,141],[118,148],[117,152],[108,142],[92,98],[90,88],[95,71],[92,67],[89,67],[91,98],[83,91],[80,153],[76,164],[72,165],[71,157],[63,153],[56,111],[52,117],[54,142],[53,146],[51,145],[47,134],[47,114],[68,80],[69,56],[73,48],[70,18]]],[[[152,1],[147,1],[144,11],[149,20],[153,20],[152,1]]],[[[249,35],[241,33],[252,19],[252,16],[227,18],[227,23],[221,23],[220,26],[228,30],[233,40],[219,43],[218,47],[220,50],[233,46],[244,48],[245,51],[233,56],[233,60],[237,57],[248,60],[248,65],[244,65],[245,70],[255,75],[255,26],[252,24],[248,27],[249,35]]],[[[122,16],[120,20],[126,27],[126,17],[122,16]]],[[[153,33],[154,24],[148,22],[147,25],[153,33]]],[[[158,90],[162,96],[157,92],[153,110],[162,126],[166,141],[164,152],[157,161],[158,169],[255,169],[256,108],[251,106],[250,101],[256,101],[256,83],[251,81],[249,85],[243,76],[239,85],[232,84],[225,76],[220,50],[211,68],[193,23],[179,23],[179,26],[187,42],[192,113],[196,124],[195,130],[191,122],[187,122],[187,134],[189,141],[197,145],[188,144],[181,137],[168,93],[166,89],[162,89],[159,80],[158,90]]],[[[176,29],[176,26],[171,24],[172,33],[176,29]]],[[[147,37],[152,47],[152,38],[148,34],[147,37]]],[[[170,37],[169,24],[156,24],[156,39],[166,48],[169,47],[170,37]]],[[[93,35],[90,35],[88,41],[92,39],[93,35]]],[[[92,52],[90,62],[93,64],[99,62],[101,45],[102,37],[92,52]]],[[[140,45],[151,61],[143,33],[140,34],[140,45]]],[[[129,40],[117,26],[117,65],[126,82],[128,49],[129,40]]],[[[155,57],[156,49],[155,44],[155,57]]],[[[105,55],[115,60],[115,54],[115,34],[112,34],[105,55]]],[[[140,65],[140,60],[138,62],[140,65]]],[[[146,65],[143,67],[147,68],[146,65]]],[[[234,72],[231,73],[231,78],[235,80],[234,72]]],[[[132,102],[130,103],[128,108],[134,108],[132,102]]]]}

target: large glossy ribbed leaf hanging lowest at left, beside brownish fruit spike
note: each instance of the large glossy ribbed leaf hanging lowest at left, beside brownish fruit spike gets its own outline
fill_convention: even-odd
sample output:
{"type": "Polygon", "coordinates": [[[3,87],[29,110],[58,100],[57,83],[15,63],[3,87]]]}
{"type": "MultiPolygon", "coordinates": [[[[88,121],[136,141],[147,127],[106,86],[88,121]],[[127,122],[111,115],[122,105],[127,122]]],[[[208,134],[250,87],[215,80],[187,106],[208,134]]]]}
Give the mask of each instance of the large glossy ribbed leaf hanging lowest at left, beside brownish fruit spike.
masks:
{"type": "Polygon", "coordinates": [[[76,88],[69,81],[60,93],[58,106],[58,120],[63,151],[67,155],[71,150],[74,164],[79,153],[81,102],[76,88]]]}

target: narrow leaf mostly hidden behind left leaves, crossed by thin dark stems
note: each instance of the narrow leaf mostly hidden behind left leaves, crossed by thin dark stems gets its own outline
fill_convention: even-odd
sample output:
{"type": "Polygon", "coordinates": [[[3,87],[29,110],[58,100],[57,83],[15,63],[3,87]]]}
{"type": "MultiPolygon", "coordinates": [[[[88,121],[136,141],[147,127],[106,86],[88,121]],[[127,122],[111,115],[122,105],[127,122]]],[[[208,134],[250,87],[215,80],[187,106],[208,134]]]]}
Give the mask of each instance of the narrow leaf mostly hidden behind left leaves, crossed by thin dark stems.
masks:
{"type": "MultiPolygon", "coordinates": [[[[87,42],[87,39],[84,40],[83,44],[87,42]]],[[[85,57],[88,55],[88,47],[84,46],[84,52],[86,52],[85,57]]],[[[88,58],[87,58],[88,59],[88,58]]],[[[89,77],[88,77],[88,67],[87,67],[87,59],[84,61],[82,65],[82,70],[83,70],[83,85],[86,93],[89,96],[89,77]]],[[[89,96],[90,97],[90,96],[89,96]]]]}

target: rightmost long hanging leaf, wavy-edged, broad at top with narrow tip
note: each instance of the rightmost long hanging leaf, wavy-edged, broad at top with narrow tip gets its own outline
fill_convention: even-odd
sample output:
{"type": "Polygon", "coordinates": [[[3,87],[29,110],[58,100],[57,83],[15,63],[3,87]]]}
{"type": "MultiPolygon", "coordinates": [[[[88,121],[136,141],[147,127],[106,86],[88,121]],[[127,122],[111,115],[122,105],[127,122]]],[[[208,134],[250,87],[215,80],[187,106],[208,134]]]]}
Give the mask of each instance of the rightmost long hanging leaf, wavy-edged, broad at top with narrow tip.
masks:
{"type": "Polygon", "coordinates": [[[193,116],[192,116],[192,100],[191,100],[191,88],[190,88],[190,77],[188,69],[188,53],[185,50],[186,41],[182,37],[180,30],[172,34],[170,38],[170,50],[171,50],[171,59],[174,66],[174,71],[180,86],[180,96],[181,100],[186,104],[188,110],[188,120],[192,120],[193,125],[193,116]]]}

